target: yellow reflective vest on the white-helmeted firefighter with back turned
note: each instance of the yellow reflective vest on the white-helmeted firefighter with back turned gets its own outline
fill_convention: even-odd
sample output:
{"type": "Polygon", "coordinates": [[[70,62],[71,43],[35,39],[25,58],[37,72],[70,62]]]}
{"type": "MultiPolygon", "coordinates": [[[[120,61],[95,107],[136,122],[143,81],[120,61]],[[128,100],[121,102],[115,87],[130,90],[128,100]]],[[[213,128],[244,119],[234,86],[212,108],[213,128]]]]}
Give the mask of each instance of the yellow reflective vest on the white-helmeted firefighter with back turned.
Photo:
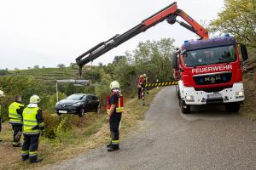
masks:
{"type": "Polygon", "coordinates": [[[23,133],[24,134],[38,134],[40,133],[39,127],[44,126],[44,122],[38,124],[37,114],[38,107],[26,107],[23,111],[23,133]]]}

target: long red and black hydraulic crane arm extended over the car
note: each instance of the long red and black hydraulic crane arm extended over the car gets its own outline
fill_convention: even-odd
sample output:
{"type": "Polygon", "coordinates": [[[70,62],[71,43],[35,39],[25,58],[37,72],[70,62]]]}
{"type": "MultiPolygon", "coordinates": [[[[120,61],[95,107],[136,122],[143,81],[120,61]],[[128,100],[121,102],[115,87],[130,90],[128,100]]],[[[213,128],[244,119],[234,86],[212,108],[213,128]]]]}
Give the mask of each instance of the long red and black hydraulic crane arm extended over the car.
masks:
{"type": "Polygon", "coordinates": [[[115,35],[111,37],[106,42],[100,42],[94,48],[90,48],[90,50],[86,51],[84,54],[81,54],[77,59],[76,63],[79,65],[80,74],[83,65],[86,65],[90,61],[98,58],[102,54],[107,53],[112,48],[119,46],[121,43],[126,42],[131,39],[131,37],[137,36],[137,34],[147,31],[150,27],[155,26],[156,24],[162,22],[163,20],[167,20],[169,24],[174,24],[178,22],[181,26],[189,29],[189,31],[195,32],[201,39],[208,38],[207,30],[198,24],[195,20],[189,17],[188,14],[184,13],[183,10],[177,8],[177,3],[172,3],[166,8],[161,9],[159,12],[153,14],[148,17],[148,19],[143,20],[139,25],[131,28],[129,31],[125,31],[125,33],[119,35],[115,35]],[[183,21],[176,20],[176,17],[180,16],[185,20],[188,24],[183,21]]]}

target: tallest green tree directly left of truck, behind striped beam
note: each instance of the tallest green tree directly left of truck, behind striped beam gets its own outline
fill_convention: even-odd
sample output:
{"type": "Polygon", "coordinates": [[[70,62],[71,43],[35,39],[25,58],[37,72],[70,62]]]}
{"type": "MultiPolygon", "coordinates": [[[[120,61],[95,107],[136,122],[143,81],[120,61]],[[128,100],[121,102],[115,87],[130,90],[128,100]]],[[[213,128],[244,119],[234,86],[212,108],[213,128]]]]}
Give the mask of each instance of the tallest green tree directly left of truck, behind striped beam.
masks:
{"type": "Polygon", "coordinates": [[[151,80],[168,80],[172,77],[171,55],[175,50],[174,40],[140,42],[133,52],[139,74],[147,73],[151,80]]]}

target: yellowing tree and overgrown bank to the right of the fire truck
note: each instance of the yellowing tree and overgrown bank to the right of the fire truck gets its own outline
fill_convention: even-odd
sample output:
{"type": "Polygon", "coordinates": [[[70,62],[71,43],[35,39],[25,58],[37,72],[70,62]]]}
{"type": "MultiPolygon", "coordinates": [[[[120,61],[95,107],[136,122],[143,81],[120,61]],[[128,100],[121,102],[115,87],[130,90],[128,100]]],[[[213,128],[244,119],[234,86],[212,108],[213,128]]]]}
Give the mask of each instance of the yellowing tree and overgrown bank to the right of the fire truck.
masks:
{"type": "Polygon", "coordinates": [[[246,100],[240,113],[256,121],[256,0],[225,0],[224,9],[209,30],[214,34],[230,33],[247,45],[249,59],[243,62],[246,100]]]}

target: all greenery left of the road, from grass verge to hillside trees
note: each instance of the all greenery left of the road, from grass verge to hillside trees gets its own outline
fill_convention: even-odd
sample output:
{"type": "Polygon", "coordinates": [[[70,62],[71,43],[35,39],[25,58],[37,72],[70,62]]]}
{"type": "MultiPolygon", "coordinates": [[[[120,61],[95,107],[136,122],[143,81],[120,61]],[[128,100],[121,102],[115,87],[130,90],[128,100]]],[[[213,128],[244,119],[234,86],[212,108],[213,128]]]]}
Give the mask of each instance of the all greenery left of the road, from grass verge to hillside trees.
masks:
{"type": "MultiPolygon", "coordinates": [[[[58,66],[59,68],[34,67],[28,70],[0,71],[0,88],[6,93],[2,100],[3,146],[0,153],[0,169],[32,168],[27,162],[20,161],[20,149],[11,146],[12,130],[8,123],[8,107],[15,95],[23,96],[27,105],[32,94],[41,98],[40,107],[44,112],[45,133],[40,138],[39,156],[44,161],[38,165],[54,163],[81,152],[107,144],[109,139],[108,123],[106,123],[106,99],[110,93],[109,84],[113,80],[120,82],[125,97],[125,113],[122,122],[122,135],[136,128],[136,122],[143,119],[148,106],[142,106],[137,99],[137,81],[139,75],[146,73],[150,81],[172,79],[170,56],[174,50],[171,38],[154,42],[140,42],[132,52],[116,56],[108,65],[84,66],[82,77],[89,79],[90,86],[77,87],[72,83],[59,84],[59,99],[74,93],[96,94],[101,99],[100,114],[88,113],[84,117],[74,115],[57,116],[55,114],[55,80],[77,79],[78,67],[58,66]]],[[[147,102],[153,99],[157,90],[150,91],[147,102]]],[[[124,138],[122,136],[121,138],[124,138]]]]}

